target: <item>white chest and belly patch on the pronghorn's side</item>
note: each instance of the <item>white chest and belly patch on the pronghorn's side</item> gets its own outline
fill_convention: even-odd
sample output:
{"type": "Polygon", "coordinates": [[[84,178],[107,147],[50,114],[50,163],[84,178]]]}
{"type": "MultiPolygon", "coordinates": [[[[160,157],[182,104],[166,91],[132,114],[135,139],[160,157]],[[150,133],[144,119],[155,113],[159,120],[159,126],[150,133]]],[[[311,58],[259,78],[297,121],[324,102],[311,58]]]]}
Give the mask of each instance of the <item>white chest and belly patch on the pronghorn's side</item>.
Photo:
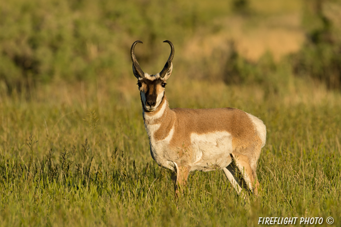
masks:
{"type": "Polygon", "coordinates": [[[160,124],[146,125],[151,155],[158,165],[174,171],[174,162],[178,165],[186,163],[191,170],[210,171],[223,169],[231,163],[232,136],[228,132],[192,133],[189,147],[172,148],[170,140],[174,128],[163,140],[155,140],[152,132],[159,127],[160,124]]]}

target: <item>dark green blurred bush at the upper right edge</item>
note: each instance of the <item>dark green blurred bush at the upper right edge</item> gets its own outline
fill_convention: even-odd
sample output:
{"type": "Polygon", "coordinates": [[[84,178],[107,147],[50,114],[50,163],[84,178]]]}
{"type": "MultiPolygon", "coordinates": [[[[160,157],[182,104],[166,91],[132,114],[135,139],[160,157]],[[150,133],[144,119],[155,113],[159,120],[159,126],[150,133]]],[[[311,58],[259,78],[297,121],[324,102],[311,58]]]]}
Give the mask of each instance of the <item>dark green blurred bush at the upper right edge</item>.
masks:
{"type": "Polygon", "coordinates": [[[293,72],[318,79],[328,88],[341,89],[340,28],[326,16],[321,0],[306,2],[305,7],[303,23],[306,22],[307,40],[303,48],[292,55],[293,72]]]}

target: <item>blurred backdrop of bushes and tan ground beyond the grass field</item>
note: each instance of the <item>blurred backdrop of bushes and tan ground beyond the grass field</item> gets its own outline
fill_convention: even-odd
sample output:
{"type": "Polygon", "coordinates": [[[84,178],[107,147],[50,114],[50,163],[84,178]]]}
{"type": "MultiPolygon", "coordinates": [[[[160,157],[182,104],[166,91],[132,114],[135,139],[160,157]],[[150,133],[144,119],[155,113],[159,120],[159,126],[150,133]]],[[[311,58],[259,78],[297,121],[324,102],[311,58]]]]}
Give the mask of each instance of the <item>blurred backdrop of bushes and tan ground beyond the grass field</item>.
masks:
{"type": "Polygon", "coordinates": [[[135,48],[142,69],[155,74],[170,53],[166,39],[174,81],[276,93],[299,77],[341,88],[337,0],[11,0],[0,2],[1,94],[133,79],[135,40],[144,42],[135,48]]]}

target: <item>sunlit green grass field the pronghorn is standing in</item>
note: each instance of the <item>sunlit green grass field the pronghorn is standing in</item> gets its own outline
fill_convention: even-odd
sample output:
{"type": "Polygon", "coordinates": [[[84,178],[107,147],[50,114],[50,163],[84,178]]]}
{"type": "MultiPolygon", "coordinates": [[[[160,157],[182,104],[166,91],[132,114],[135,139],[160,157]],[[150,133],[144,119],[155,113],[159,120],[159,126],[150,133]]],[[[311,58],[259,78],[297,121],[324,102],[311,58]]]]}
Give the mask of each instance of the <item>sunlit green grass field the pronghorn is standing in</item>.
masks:
{"type": "Polygon", "coordinates": [[[175,200],[169,172],[150,156],[131,77],[47,85],[30,98],[1,94],[1,226],[256,226],[271,216],[340,221],[340,93],[298,79],[282,94],[170,78],[171,107],[237,107],[268,130],[259,197],[236,196],[223,172],[214,171],[192,172],[175,200]]]}

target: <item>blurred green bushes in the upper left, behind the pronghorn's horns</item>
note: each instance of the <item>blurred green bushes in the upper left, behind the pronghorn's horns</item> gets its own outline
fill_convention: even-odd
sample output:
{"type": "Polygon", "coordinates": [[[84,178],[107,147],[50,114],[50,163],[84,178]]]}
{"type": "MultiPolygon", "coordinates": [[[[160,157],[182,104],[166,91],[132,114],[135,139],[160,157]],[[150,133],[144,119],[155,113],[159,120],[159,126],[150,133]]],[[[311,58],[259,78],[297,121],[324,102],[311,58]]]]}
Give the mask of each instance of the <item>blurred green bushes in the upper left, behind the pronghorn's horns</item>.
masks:
{"type": "Polygon", "coordinates": [[[156,42],[181,44],[199,24],[224,14],[222,4],[206,11],[204,1],[199,9],[160,0],[1,1],[0,81],[11,91],[53,80],[118,78],[131,69],[133,41],[145,42],[148,61],[158,54],[156,42]]]}

